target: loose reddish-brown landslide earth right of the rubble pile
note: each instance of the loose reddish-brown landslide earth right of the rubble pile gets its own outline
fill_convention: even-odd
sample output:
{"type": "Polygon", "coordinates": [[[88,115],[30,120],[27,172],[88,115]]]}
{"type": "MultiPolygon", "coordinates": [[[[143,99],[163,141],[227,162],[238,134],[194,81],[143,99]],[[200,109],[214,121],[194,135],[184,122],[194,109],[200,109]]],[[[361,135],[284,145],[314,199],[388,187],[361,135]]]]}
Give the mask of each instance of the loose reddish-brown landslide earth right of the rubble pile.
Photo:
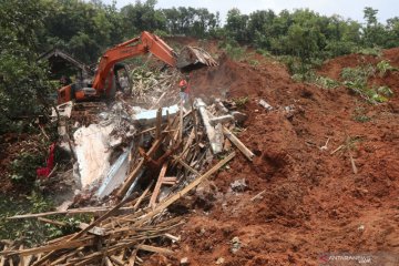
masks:
{"type": "MultiPolygon", "coordinates": [[[[399,66],[398,54],[391,49],[383,58],[399,66]]],[[[380,60],[351,54],[330,60],[320,72],[337,79],[342,68],[380,60]]],[[[197,188],[205,196],[175,232],[182,236],[177,257],[187,257],[190,265],[215,265],[221,257],[228,266],[327,265],[320,258],[326,253],[385,253],[380,259],[390,256],[396,263],[372,265],[399,265],[398,81],[398,72],[372,78],[396,94],[370,105],[345,88],[294,83],[284,66],[268,60],[252,66],[223,55],[219,66],[197,71],[195,94],[249,98],[239,139],[257,156],[250,163],[238,154],[228,170],[197,188]],[[266,112],[259,99],[276,110],[266,112]],[[279,110],[287,105],[294,115],[279,110]],[[359,113],[370,121],[358,122],[359,113]],[[356,140],[351,149],[331,154],[348,139],[356,140]],[[232,192],[229,184],[239,178],[248,188],[232,192]],[[262,191],[262,198],[250,201],[262,191]],[[233,237],[241,242],[235,254],[233,237]]],[[[167,263],[178,265],[158,255],[151,265],[167,263]]]]}

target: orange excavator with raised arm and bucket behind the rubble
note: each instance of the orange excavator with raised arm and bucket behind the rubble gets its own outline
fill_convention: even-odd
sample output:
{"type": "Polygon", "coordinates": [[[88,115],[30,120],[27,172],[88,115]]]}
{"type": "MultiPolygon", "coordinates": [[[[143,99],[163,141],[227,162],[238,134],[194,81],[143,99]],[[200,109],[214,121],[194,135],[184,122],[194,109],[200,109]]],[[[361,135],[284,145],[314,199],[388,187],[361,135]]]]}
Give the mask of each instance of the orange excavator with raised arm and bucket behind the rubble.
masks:
{"type": "Polygon", "coordinates": [[[102,55],[92,84],[86,85],[83,82],[76,82],[61,88],[58,93],[58,103],[112,98],[116,90],[116,63],[149,52],[168,66],[182,71],[217,64],[207,52],[195,47],[185,47],[177,55],[161,38],[144,31],[140,37],[111,48],[102,55]]]}

